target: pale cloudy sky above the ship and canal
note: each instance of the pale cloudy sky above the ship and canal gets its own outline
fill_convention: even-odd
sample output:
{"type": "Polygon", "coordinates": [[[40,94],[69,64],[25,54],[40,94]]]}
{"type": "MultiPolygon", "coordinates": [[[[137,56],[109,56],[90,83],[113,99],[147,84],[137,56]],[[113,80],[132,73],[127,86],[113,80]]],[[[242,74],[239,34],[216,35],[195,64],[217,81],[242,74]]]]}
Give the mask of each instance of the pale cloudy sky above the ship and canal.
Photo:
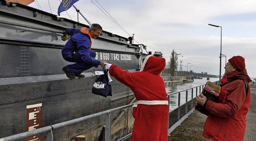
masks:
{"type": "MultiPolygon", "coordinates": [[[[60,0],[35,0],[28,6],[58,15],[59,5],[60,0]]],[[[181,53],[178,70],[182,61],[183,71],[219,75],[222,48],[221,74],[225,59],[239,55],[248,75],[256,77],[256,0],[79,0],[74,6],[104,31],[127,38],[134,34],[134,44],[162,52],[166,62],[173,49],[181,53]]],[[[67,13],[77,21],[73,7],[60,17],[70,19],[67,13]]],[[[88,25],[80,15],[79,22],[88,25]]]]}

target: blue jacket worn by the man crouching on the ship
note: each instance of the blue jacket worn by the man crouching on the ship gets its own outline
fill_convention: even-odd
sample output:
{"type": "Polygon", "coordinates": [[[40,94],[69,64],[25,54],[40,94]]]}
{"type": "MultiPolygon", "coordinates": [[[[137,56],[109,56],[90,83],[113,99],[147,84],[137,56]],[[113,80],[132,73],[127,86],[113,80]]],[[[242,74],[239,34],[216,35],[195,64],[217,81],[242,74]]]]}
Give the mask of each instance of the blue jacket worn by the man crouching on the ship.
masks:
{"type": "Polygon", "coordinates": [[[95,58],[90,56],[90,37],[89,35],[86,35],[80,31],[80,29],[74,29],[74,28],[67,28],[65,32],[68,35],[72,36],[72,41],[76,45],[76,47],[73,46],[70,39],[68,39],[67,43],[64,45],[62,49],[62,53],[72,53],[77,52],[81,60],[86,62],[88,65],[99,65],[100,61],[96,60],[95,58]]]}

